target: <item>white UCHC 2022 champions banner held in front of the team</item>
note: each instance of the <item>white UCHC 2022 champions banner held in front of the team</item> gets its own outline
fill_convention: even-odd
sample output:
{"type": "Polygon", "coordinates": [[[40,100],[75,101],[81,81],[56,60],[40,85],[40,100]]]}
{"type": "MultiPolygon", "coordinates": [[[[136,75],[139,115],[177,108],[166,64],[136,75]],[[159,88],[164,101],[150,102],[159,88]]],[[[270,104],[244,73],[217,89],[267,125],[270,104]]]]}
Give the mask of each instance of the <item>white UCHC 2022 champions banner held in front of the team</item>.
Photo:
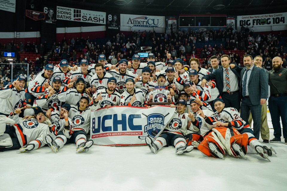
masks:
{"type": "Polygon", "coordinates": [[[175,108],[114,106],[91,112],[91,139],[104,146],[144,145],[170,121],[175,108]]]}

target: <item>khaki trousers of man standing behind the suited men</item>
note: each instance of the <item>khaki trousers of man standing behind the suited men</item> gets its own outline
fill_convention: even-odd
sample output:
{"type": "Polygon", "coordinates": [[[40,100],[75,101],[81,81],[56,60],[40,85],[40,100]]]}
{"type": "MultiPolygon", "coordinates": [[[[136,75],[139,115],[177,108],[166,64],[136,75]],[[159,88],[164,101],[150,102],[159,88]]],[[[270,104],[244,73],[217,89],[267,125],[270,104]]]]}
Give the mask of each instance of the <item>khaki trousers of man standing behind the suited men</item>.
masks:
{"type": "MultiPolygon", "coordinates": [[[[248,119],[249,126],[252,125],[252,115],[250,112],[249,119],[248,119]]],[[[261,107],[261,128],[260,128],[261,138],[269,140],[269,127],[267,123],[267,103],[265,102],[264,105],[261,107]]]]}

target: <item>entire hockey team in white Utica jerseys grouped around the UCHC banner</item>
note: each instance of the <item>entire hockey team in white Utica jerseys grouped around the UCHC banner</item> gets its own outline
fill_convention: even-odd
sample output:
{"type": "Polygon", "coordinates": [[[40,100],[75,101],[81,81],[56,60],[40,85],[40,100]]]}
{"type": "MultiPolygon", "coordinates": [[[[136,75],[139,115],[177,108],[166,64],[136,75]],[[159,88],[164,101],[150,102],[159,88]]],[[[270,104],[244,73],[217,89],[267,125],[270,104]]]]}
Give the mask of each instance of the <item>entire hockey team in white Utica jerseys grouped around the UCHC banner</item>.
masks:
{"type": "Polygon", "coordinates": [[[176,110],[167,126],[157,138],[145,138],[152,153],[170,145],[177,155],[197,148],[222,159],[227,154],[246,159],[247,153],[255,153],[269,160],[276,154],[254,137],[236,108],[225,107],[215,80],[202,83],[201,78],[211,72],[199,67],[197,58],[187,65],[167,53],[163,63],[149,53],[147,61],[142,63],[135,54],[131,61],[112,65],[99,55],[97,64],[82,59],[79,67],[71,68],[62,60],[56,66],[47,64],[26,90],[25,77],[17,77],[0,89],[0,151],[22,153],[47,144],[57,153],[74,143],[77,153],[87,152],[93,145],[91,110],[118,105],[149,108],[168,102],[176,110]]]}

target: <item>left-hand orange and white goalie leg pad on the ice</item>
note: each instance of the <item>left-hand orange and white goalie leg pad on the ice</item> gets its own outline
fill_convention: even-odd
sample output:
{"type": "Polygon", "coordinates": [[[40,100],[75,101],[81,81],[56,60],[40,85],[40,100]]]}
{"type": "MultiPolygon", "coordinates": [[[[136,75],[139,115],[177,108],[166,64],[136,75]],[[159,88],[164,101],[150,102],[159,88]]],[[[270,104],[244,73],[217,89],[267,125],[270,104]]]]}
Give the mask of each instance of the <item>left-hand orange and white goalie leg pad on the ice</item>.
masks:
{"type": "Polygon", "coordinates": [[[213,153],[209,149],[209,146],[208,146],[209,142],[216,144],[216,146],[218,147],[218,149],[222,153],[222,155],[225,155],[224,146],[219,141],[219,139],[217,138],[217,136],[215,135],[214,132],[210,132],[207,135],[205,135],[204,139],[198,145],[197,149],[200,150],[203,154],[205,154],[207,156],[214,156],[213,153]]]}

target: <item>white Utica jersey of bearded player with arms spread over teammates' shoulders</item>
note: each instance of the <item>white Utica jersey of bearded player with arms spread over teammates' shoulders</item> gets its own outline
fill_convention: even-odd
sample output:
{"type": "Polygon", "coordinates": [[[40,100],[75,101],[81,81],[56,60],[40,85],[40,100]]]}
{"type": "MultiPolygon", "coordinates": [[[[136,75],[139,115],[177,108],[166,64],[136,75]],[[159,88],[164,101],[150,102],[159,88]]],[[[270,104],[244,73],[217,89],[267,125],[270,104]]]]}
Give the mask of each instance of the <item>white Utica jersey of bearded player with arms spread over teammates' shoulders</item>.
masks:
{"type": "Polygon", "coordinates": [[[109,73],[112,74],[112,76],[117,79],[117,88],[120,94],[126,91],[126,85],[125,85],[126,79],[135,78],[138,76],[136,73],[131,72],[129,70],[126,70],[125,74],[121,74],[120,72],[117,72],[116,70],[111,70],[109,71],[109,73]]]}

